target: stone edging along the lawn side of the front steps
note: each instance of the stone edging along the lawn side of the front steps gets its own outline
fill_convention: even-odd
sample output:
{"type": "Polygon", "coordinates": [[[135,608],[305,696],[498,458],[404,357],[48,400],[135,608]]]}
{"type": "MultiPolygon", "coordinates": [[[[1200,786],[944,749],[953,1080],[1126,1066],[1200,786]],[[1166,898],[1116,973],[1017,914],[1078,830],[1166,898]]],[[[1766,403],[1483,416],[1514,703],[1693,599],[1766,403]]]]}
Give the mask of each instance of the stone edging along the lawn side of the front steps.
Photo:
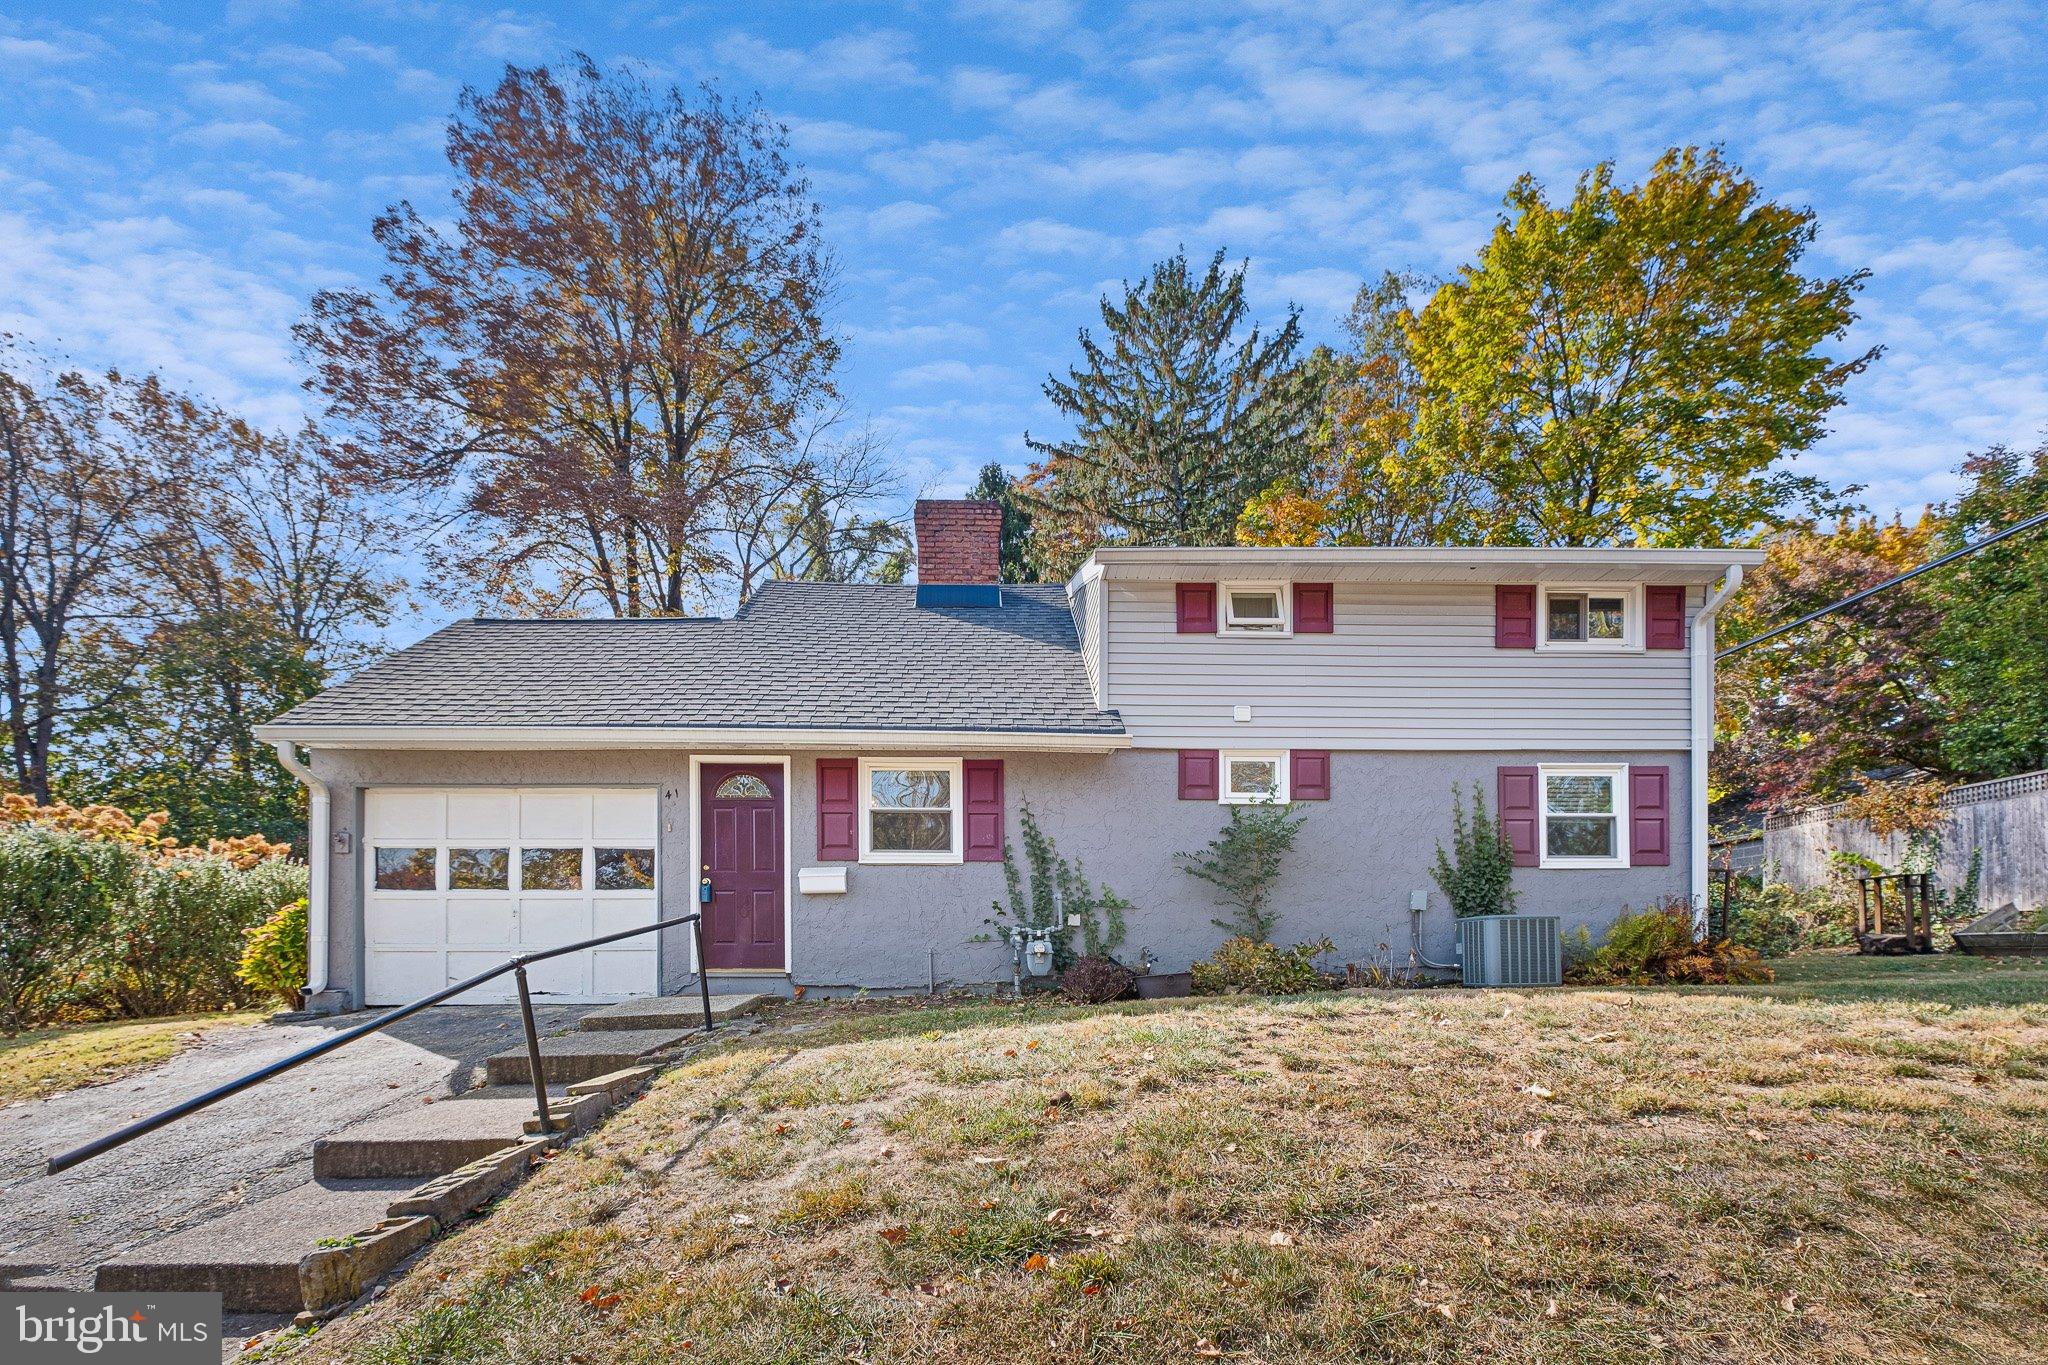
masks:
{"type": "Polygon", "coordinates": [[[344,1312],[399,1261],[524,1179],[545,1160],[545,1152],[588,1132],[612,1107],[647,1089],[657,1070],[657,1066],[627,1066],[569,1085],[569,1103],[549,1105],[551,1115],[567,1121],[565,1128],[543,1136],[537,1132],[539,1119],[530,1117],[528,1132],[518,1142],[434,1177],[403,1199],[393,1199],[375,1226],[332,1238],[332,1246],[317,1246],[301,1257],[299,1293],[305,1300],[301,1324],[309,1326],[344,1312]]]}

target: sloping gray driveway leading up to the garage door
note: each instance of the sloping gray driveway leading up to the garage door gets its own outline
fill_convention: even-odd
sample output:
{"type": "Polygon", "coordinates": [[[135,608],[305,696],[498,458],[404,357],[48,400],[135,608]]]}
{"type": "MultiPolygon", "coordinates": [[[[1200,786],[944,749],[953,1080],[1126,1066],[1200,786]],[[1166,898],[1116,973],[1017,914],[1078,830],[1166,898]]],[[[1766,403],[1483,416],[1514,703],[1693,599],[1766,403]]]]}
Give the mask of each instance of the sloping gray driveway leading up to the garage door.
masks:
{"type": "MultiPolygon", "coordinates": [[[[557,1033],[582,1013],[551,1005],[535,1017],[543,1033],[557,1033]]],[[[117,1252],[307,1181],[315,1138],[471,1089],[483,1058],[520,1040],[514,1007],[428,1009],[63,1175],[43,1175],[53,1152],[371,1017],[221,1029],[137,1076],[0,1107],[0,1265],[49,1267],[45,1283],[90,1287],[92,1269],[117,1252]]]]}

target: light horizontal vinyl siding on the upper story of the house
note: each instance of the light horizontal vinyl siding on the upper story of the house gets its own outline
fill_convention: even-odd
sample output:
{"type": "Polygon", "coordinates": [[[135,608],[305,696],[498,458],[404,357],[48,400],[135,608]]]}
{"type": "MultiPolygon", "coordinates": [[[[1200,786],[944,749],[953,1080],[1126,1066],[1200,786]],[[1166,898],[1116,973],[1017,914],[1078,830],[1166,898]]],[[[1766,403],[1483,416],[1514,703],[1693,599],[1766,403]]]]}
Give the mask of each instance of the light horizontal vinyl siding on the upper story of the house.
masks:
{"type": "MultiPolygon", "coordinates": [[[[1688,593],[1688,614],[1698,608],[1688,593]]],[[[1114,706],[1141,747],[1688,749],[1686,651],[1493,647],[1491,583],[1335,585],[1335,632],[1180,634],[1174,583],[1110,583],[1114,706]],[[1237,706],[1251,720],[1237,722],[1237,706]]]]}

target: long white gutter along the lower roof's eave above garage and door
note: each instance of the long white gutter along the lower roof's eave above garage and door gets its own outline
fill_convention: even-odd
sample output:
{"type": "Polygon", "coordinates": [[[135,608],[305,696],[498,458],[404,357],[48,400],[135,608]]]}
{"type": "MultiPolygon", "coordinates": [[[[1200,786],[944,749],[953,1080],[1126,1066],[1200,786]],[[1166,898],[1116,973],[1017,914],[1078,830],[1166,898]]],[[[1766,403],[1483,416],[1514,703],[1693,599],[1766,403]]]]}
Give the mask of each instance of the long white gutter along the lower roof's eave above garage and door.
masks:
{"type": "MultiPolygon", "coordinates": [[[[309,749],[877,749],[887,753],[1114,753],[1130,737],[1063,731],[805,731],[655,724],[260,724],[256,737],[309,749]]],[[[287,763],[289,765],[289,763],[287,763]]],[[[297,769],[295,769],[297,772],[297,769]]]]}

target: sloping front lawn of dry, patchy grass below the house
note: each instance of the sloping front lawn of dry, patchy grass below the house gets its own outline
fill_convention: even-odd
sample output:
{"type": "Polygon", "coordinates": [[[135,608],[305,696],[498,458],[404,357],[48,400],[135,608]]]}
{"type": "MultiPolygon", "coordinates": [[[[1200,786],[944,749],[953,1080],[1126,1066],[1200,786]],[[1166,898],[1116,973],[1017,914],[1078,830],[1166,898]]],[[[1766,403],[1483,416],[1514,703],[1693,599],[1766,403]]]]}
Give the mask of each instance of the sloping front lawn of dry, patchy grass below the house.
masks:
{"type": "Polygon", "coordinates": [[[287,1349],[2042,1359],[2048,972],[2032,982],[2030,1003],[1962,1007],[1573,990],[811,1013],[823,1027],[670,1072],[287,1349]]]}

